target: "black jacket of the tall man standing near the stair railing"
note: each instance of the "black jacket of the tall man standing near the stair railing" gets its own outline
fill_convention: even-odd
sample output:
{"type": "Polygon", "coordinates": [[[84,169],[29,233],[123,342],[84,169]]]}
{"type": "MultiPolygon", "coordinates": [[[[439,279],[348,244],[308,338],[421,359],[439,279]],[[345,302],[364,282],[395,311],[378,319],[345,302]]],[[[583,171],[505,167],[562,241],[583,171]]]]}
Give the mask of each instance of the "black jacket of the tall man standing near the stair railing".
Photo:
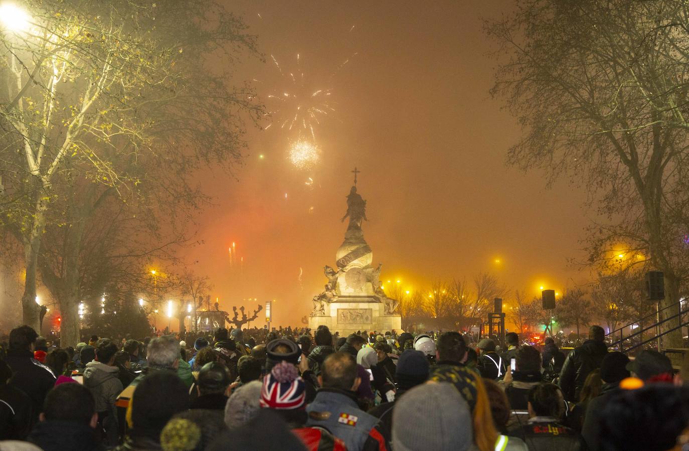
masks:
{"type": "Polygon", "coordinates": [[[586,340],[567,355],[560,372],[559,385],[567,401],[579,401],[588,374],[601,368],[608,346],[602,341],[586,340]]]}

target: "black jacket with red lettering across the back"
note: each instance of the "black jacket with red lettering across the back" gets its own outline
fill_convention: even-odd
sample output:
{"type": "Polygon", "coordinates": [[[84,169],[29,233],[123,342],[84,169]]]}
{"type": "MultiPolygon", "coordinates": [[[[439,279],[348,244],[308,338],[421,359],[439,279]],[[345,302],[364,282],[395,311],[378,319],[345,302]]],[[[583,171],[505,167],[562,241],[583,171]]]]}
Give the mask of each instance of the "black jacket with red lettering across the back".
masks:
{"type": "Polygon", "coordinates": [[[522,439],[530,451],[586,450],[582,436],[577,431],[566,428],[550,417],[533,417],[521,428],[511,430],[509,435],[522,439]]]}

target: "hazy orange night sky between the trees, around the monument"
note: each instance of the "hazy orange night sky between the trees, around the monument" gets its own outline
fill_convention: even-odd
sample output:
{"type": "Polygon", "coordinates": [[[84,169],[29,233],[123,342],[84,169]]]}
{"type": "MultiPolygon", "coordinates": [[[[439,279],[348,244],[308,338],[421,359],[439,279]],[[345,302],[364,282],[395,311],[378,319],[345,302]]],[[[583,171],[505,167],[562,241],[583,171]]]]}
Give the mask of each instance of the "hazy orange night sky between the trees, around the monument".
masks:
{"type": "Polygon", "coordinates": [[[325,283],[323,265],[334,266],[344,237],[340,218],[355,166],[368,202],[364,236],[374,264],[384,263],[383,280],[423,289],[491,271],[512,290],[535,295],[539,285],[564,290],[586,279],[568,265],[582,258],[589,214],[583,190],[568,180],[546,189],[541,173],[505,164],[520,128],[489,97],[495,47],[482,32],[482,19],[508,14],[505,6],[227,2],[258,35],[266,59],[247,60],[237,81],[256,79],[274,110],[267,94],[289,86],[270,55],[294,71],[300,54],[305,86],[331,89],[336,111],[316,128],[321,154],[313,170],[291,165],[287,150],[296,134],[278,124],[249,129],[246,159],[234,174],[199,174],[214,206],[195,236],[205,243],[185,259],[198,260],[194,270],[210,277],[221,308],[276,299],[274,324],[297,324],[311,311],[311,297],[325,283]],[[243,270],[230,266],[233,241],[243,270]]]}

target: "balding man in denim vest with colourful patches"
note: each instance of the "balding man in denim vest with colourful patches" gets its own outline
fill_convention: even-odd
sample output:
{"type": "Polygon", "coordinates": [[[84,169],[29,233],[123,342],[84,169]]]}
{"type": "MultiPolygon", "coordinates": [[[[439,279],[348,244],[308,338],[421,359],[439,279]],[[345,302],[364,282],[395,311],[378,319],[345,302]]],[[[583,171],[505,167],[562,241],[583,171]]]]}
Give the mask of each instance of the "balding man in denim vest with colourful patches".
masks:
{"type": "Polygon", "coordinates": [[[307,406],[307,426],[320,426],[345,442],[347,450],[387,449],[378,419],[361,410],[356,390],[361,383],[349,352],[335,352],[323,362],[320,390],[307,406]]]}

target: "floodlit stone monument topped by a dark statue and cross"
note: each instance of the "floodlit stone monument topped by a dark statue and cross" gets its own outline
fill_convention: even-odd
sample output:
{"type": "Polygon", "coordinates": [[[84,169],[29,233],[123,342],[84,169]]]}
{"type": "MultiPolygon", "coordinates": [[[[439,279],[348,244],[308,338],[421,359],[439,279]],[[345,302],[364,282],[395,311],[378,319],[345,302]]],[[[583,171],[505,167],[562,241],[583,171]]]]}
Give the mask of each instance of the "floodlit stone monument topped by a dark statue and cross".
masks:
{"type": "Polygon", "coordinates": [[[345,241],[336,252],[336,269],[326,265],[323,269],[327,283],[325,290],[313,297],[313,312],[309,316],[309,328],[327,325],[331,332],[340,332],[340,337],[367,330],[385,332],[402,329],[402,318],[398,314],[398,301],[390,299],[380,283],[382,263],[373,267],[373,251],[364,240],[361,229],[366,218],[366,201],[354,185],[347,196],[347,213],[342,222],[349,218],[345,241]]]}

